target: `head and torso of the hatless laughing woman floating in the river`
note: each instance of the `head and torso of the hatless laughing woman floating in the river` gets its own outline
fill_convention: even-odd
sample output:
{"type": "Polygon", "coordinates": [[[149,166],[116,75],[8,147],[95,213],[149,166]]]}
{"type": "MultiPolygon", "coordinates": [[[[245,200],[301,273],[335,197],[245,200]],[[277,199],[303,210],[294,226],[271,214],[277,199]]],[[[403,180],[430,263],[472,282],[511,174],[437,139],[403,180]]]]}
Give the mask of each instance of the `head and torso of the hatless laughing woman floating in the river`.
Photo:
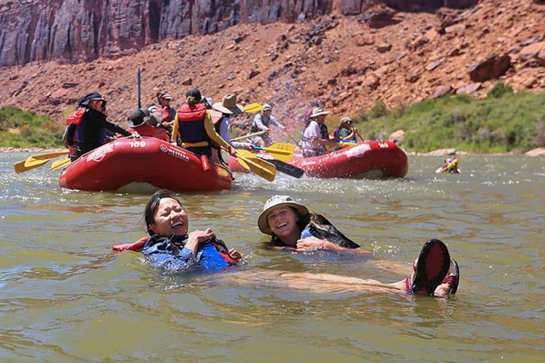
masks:
{"type": "Polygon", "coordinates": [[[145,206],[144,218],[151,237],[145,242],[142,252],[155,266],[221,270],[243,263],[241,253],[229,250],[211,228],[188,234],[189,218],[172,191],[156,191],[145,206]]]}

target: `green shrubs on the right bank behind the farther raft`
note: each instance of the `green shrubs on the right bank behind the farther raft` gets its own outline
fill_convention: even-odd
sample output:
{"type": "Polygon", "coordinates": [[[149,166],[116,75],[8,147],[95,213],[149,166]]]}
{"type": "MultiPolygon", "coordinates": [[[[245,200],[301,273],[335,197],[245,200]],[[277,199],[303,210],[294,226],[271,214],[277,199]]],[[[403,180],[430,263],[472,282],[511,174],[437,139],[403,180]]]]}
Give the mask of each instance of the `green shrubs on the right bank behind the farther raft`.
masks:
{"type": "MultiPolygon", "coordinates": [[[[404,130],[400,145],[408,151],[525,152],[545,146],[545,92],[514,93],[502,83],[485,99],[445,96],[392,110],[377,101],[353,118],[365,139],[387,139],[395,130],[404,130]]],[[[336,127],[338,120],[330,125],[336,127]]]]}

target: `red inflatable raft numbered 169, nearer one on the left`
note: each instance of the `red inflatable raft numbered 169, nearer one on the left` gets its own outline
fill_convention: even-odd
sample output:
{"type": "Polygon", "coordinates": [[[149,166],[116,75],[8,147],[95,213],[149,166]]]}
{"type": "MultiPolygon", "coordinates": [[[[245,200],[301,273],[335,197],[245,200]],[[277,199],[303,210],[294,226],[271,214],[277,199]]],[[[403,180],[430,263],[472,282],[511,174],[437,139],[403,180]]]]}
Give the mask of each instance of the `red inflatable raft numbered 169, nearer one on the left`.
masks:
{"type": "Polygon", "coordinates": [[[158,138],[120,138],[72,162],[59,183],[84,191],[113,191],[133,181],[173,191],[231,189],[229,169],[206,161],[158,138]]]}

